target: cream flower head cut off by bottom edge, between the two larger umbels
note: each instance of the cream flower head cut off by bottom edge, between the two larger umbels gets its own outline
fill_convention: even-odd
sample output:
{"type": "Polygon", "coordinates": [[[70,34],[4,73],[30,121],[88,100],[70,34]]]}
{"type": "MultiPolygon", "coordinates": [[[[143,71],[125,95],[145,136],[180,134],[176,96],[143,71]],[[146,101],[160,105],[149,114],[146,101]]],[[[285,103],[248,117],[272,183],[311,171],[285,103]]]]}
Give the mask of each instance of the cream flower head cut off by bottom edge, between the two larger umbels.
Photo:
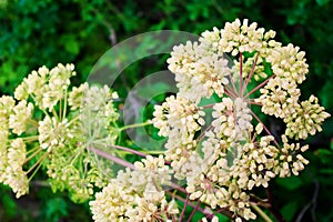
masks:
{"type": "Polygon", "coordinates": [[[134,165],[132,171],[119,171],[95,194],[95,200],[90,202],[94,221],[163,221],[179,213],[175,201],[167,201],[161,186],[170,184],[172,173],[164,159],[148,155],[134,165]]]}

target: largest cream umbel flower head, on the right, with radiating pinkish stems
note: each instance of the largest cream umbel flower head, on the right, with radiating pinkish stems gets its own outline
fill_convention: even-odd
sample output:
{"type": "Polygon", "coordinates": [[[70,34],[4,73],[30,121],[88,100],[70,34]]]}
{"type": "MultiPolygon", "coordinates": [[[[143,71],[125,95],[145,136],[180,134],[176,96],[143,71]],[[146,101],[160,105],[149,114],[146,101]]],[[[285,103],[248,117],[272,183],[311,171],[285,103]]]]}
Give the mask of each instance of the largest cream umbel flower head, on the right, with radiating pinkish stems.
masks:
{"type": "Polygon", "coordinates": [[[168,137],[165,160],[176,179],[185,179],[190,200],[228,209],[236,221],[256,218],[250,204],[254,186],[297,175],[309,163],[301,154],[307,145],[289,143],[287,138],[306,139],[330,117],[313,95],[300,102],[299,84],[309,72],[305,53],[283,47],[274,36],[256,23],[235,20],[203,32],[199,42],[174,47],[168,62],[179,92],[153,113],[154,127],[168,137]],[[226,56],[235,57],[233,63],[226,56]],[[220,101],[200,107],[213,93],[220,101]],[[282,144],[250,105],[286,123],[282,144]],[[208,124],[199,110],[211,108],[211,117],[205,115],[211,124],[199,134],[208,124]]]}

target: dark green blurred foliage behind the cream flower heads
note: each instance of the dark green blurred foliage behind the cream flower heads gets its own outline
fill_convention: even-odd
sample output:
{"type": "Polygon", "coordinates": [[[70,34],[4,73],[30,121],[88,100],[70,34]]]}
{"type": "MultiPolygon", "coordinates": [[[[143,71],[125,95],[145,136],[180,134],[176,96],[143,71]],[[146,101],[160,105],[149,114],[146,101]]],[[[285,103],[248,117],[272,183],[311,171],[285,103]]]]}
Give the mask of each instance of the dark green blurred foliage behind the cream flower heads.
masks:
{"type": "MultiPolygon", "coordinates": [[[[83,82],[107,50],[134,34],[163,29],[199,34],[223,28],[225,21],[249,18],[275,30],[283,43],[292,42],[306,52],[310,73],[303,97],[317,94],[332,114],[332,14],[330,0],[0,0],[0,94],[12,94],[42,64],[72,62],[79,73],[74,83],[83,82]]],[[[164,61],[131,65],[117,90],[125,93],[123,83],[131,88],[144,73],[165,68],[164,61]]],[[[279,123],[270,124],[279,128],[279,123]]],[[[301,176],[271,184],[275,204],[287,221],[333,221],[332,118],[322,133],[306,142],[311,164],[301,176]]],[[[87,204],[75,205],[65,194],[53,194],[42,181],[32,184],[30,192],[17,201],[1,186],[0,221],[91,221],[87,204]]]]}

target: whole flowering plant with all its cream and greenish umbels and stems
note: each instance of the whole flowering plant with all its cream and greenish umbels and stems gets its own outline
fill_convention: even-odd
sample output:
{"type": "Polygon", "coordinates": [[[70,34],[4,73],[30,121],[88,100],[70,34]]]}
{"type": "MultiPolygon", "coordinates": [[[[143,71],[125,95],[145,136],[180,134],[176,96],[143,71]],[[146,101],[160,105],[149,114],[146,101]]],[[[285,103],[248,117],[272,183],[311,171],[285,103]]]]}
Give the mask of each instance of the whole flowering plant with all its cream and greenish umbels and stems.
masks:
{"type": "Polygon", "coordinates": [[[53,191],[67,189],[77,202],[103,188],[90,202],[100,222],[183,221],[188,205],[188,221],[196,211],[202,221],[219,221],[221,213],[271,221],[260,206],[272,203],[256,196],[255,188],[297,175],[309,163],[302,155],[309,147],[299,140],[321,131],[330,117],[314,95],[300,100],[305,53],[274,36],[235,20],[174,47],[168,63],[179,92],[155,105],[147,123],[168,138],[159,157],[118,144],[122,130],[138,125],[119,127],[118,94],[109,87],[71,89],[72,64],[33,71],[16,100],[0,99],[0,182],[19,198],[42,167],[53,191]],[[281,137],[265,127],[264,114],[285,123],[281,137]],[[142,159],[131,163],[119,151],[142,159]],[[125,169],[105,172],[111,164],[125,169]]]}

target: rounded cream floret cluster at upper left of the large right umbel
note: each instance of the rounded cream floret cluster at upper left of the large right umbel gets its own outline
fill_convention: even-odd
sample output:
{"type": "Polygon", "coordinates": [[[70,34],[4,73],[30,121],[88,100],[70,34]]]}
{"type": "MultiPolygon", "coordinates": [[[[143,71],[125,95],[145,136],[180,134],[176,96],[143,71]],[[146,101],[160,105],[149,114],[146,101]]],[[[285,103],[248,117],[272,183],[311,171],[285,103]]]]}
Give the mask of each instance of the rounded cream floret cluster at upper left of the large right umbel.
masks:
{"type": "Polygon", "coordinates": [[[229,83],[228,60],[212,53],[204,42],[186,42],[173,48],[168,59],[169,69],[175,73],[179,94],[198,103],[213,92],[223,95],[224,84],[229,83]]]}

